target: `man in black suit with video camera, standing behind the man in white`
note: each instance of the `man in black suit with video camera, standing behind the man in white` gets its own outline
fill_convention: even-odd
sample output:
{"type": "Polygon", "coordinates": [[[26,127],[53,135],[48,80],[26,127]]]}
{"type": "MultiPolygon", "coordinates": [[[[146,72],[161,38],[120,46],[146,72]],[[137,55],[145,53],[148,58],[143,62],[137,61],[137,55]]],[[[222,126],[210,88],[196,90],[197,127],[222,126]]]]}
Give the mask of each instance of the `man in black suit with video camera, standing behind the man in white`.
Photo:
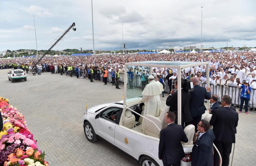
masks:
{"type": "MultiPolygon", "coordinates": [[[[184,80],[181,79],[181,87],[184,86],[184,80]]],[[[177,80],[175,80],[174,84],[175,89],[178,89],[178,83],[177,80]]],[[[191,122],[192,116],[189,111],[189,102],[190,102],[190,92],[185,91],[181,88],[181,125],[185,123],[185,126],[187,126],[188,122],[191,122]]],[[[176,119],[174,123],[178,124],[178,91],[174,92],[174,89],[171,91],[171,94],[166,99],[166,105],[170,106],[169,111],[174,112],[176,115],[176,119]]]]}

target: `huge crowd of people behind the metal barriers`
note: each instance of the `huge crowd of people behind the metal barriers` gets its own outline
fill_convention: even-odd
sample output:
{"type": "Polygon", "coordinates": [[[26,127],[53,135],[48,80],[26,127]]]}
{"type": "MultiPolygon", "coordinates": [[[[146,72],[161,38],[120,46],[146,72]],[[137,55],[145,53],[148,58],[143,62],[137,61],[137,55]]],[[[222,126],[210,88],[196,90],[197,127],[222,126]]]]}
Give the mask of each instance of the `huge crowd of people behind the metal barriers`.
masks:
{"type": "MultiPolygon", "coordinates": [[[[33,65],[38,61],[37,57],[0,59],[1,69],[23,69],[26,73],[33,73],[33,65]]],[[[245,105],[256,109],[256,54],[251,51],[241,52],[211,52],[211,53],[176,53],[176,54],[126,54],[126,55],[90,55],[90,56],[58,56],[44,57],[37,65],[38,72],[63,73],[77,78],[89,78],[104,80],[104,84],[112,82],[124,83],[124,63],[139,61],[198,61],[209,62],[211,94],[218,96],[218,101],[223,95],[232,98],[232,105],[240,105],[239,97],[245,85],[252,89],[252,93],[245,95],[245,105]],[[118,70],[119,79],[116,81],[115,73],[118,70]],[[106,71],[103,76],[103,72],[106,71]],[[237,87],[238,85],[238,87],[237,87]],[[242,88],[241,88],[242,86],[242,88]],[[240,87],[240,88],[239,88],[240,87]],[[249,100],[248,100],[249,98],[249,100]],[[248,104],[247,104],[248,103],[248,104]]],[[[144,89],[149,83],[148,77],[153,74],[164,85],[164,93],[171,93],[173,80],[177,77],[177,69],[153,68],[131,66],[128,71],[129,88],[144,89]]],[[[199,85],[205,86],[206,66],[185,68],[180,73],[182,78],[199,78],[199,85]]],[[[117,87],[118,89],[119,87],[117,87]]],[[[249,89],[249,88],[247,88],[249,89]]],[[[245,108],[246,112],[248,108],[245,108]]]]}

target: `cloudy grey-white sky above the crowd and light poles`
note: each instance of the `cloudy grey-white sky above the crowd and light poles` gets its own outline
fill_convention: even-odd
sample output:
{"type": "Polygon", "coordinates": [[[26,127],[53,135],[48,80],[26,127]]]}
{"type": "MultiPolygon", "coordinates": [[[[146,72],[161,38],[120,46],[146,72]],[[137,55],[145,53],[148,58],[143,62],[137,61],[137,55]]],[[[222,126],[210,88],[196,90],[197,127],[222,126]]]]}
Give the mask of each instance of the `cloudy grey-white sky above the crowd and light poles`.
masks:
{"type": "MultiPolygon", "coordinates": [[[[54,50],[93,49],[91,0],[0,0],[0,51],[48,49],[73,23],[54,50]]],[[[95,50],[256,46],[255,0],[93,0],[95,50]],[[171,44],[170,44],[171,42],[171,44]],[[165,43],[165,44],[164,44],[165,43]]]]}

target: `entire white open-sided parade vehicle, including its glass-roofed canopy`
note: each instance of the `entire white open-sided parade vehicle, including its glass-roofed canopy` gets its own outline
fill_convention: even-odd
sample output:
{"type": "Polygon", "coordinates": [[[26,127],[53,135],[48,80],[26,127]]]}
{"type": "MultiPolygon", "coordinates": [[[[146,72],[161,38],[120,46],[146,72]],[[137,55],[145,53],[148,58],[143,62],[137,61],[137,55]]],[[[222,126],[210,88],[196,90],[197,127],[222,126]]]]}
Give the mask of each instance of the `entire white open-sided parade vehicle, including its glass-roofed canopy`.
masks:
{"type": "MultiPolygon", "coordinates": [[[[176,68],[177,73],[181,73],[183,68],[199,65],[206,65],[206,68],[209,68],[208,62],[146,61],[125,63],[125,73],[127,73],[127,69],[131,66],[149,67],[150,73],[152,72],[152,67],[176,68]]],[[[209,87],[209,73],[207,74],[206,82],[209,87]]],[[[177,80],[178,89],[181,89],[180,74],[177,74],[177,80]]],[[[124,82],[127,82],[127,76],[124,77],[124,82]]],[[[166,106],[162,109],[158,117],[144,115],[145,105],[142,108],[139,106],[142,103],[141,91],[129,89],[126,85],[124,84],[122,101],[100,104],[88,110],[86,108],[83,115],[85,136],[90,142],[97,141],[98,137],[105,139],[127,155],[136,159],[139,166],[162,166],[163,163],[158,158],[158,145],[160,130],[168,125],[165,124],[164,116],[169,111],[169,107],[166,106]],[[142,121],[144,121],[143,124],[142,121]]],[[[191,88],[193,88],[193,84],[191,88]]],[[[181,91],[178,91],[178,124],[181,124],[180,101],[181,91]]],[[[209,108],[209,101],[207,106],[209,108]]],[[[207,120],[210,121],[210,119],[207,120]]],[[[185,152],[181,165],[190,166],[193,137],[195,134],[194,125],[186,126],[184,132],[189,141],[187,143],[181,142],[185,152]]],[[[220,157],[219,153],[218,155],[220,157]]]]}

